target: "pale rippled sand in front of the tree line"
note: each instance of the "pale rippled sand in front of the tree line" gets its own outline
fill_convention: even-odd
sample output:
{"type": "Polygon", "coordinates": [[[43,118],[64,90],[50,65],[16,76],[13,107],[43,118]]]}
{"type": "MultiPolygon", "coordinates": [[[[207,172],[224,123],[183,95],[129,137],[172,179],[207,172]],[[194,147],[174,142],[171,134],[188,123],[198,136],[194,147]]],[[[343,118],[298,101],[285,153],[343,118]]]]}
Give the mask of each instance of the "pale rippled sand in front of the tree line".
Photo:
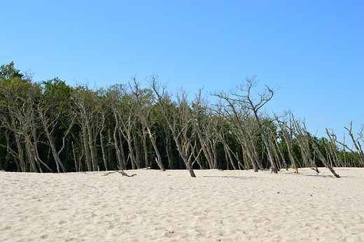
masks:
{"type": "Polygon", "coordinates": [[[364,169],[0,172],[0,241],[364,241],[364,169]]]}

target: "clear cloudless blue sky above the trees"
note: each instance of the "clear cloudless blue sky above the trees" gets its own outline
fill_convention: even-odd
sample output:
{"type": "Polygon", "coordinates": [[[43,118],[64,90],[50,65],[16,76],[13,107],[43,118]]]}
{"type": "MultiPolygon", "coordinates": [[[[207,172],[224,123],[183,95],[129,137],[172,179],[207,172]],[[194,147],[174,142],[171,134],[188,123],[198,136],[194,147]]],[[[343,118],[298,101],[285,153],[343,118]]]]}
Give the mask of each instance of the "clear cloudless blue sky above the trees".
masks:
{"type": "Polygon", "coordinates": [[[13,0],[0,10],[0,64],[36,81],[106,87],[137,74],[146,87],[158,74],[193,94],[256,75],[280,87],[267,108],[293,110],[318,137],[364,123],[364,1],[13,0]]]}

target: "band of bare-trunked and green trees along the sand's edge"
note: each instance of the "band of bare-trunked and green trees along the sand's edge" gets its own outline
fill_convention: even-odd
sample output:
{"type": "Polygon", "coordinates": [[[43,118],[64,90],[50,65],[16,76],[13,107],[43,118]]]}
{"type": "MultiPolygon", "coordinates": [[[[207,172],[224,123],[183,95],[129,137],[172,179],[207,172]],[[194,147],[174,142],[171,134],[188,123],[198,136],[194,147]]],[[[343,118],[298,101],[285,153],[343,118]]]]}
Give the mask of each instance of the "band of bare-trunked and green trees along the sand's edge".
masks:
{"type": "MultiPolygon", "coordinates": [[[[35,82],[14,63],[0,68],[0,170],[20,172],[121,169],[281,169],[364,166],[363,128],[353,145],[326,129],[318,138],[292,112],[268,113],[276,90],[256,93],[255,76],[228,92],[174,93],[146,77],[110,87],[35,82]],[[216,103],[211,104],[209,97],[216,103]]],[[[283,107],[284,108],[284,107],[283,107]]],[[[344,126],[345,124],[343,124],[344,126]]]]}

